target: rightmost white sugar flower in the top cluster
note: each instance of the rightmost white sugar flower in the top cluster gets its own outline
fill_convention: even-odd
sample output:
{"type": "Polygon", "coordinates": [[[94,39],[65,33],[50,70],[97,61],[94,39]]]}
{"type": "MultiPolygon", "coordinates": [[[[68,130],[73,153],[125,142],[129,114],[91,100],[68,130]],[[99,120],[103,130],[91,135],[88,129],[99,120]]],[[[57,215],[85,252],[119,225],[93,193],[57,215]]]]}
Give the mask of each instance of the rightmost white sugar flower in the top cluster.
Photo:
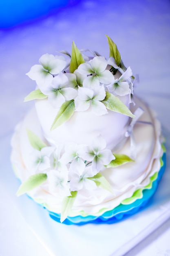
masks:
{"type": "Polygon", "coordinates": [[[124,96],[126,94],[130,94],[130,86],[131,83],[130,77],[132,76],[132,70],[130,67],[119,77],[119,79],[115,79],[113,83],[107,85],[107,88],[110,92],[115,92],[115,94],[119,96],[124,96]]]}

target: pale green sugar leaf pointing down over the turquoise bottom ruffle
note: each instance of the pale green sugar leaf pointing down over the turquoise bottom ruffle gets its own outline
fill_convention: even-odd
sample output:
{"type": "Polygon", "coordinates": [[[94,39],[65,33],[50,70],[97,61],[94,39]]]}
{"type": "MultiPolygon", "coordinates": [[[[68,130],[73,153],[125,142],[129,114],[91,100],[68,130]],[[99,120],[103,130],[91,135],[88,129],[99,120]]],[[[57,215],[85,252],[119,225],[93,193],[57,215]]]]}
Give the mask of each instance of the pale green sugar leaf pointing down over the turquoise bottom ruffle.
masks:
{"type": "Polygon", "coordinates": [[[63,222],[69,215],[71,208],[73,207],[75,198],[77,196],[77,191],[71,191],[70,196],[66,196],[62,201],[62,212],[60,221],[63,222]]]}

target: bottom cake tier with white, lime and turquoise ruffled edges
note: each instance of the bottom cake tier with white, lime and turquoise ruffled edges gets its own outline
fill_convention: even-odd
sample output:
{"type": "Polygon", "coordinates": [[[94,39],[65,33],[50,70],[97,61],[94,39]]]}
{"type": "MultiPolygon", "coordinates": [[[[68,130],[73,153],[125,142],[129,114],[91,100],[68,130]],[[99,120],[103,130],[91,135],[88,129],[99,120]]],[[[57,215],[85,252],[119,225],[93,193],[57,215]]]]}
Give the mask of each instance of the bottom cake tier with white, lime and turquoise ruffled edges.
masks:
{"type": "MultiPolygon", "coordinates": [[[[155,113],[141,100],[136,99],[136,105],[132,112],[139,107],[144,109],[144,114],[137,120],[132,130],[135,139],[133,141],[133,144],[135,143],[135,161],[102,170],[102,175],[108,180],[115,193],[110,193],[99,187],[90,191],[84,188],[78,191],[72,210],[64,220],[64,224],[114,223],[139,211],[155,193],[166,166],[161,128],[159,121],[155,118],[155,113]]],[[[29,169],[29,156],[32,153],[32,148],[27,137],[27,128],[46,141],[35,108],[16,127],[12,139],[11,161],[15,174],[21,182],[33,174],[29,169]]],[[[132,154],[131,139],[128,137],[124,146],[113,154],[130,156],[132,154]]],[[[51,145],[49,144],[49,146],[51,145]]],[[[63,198],[56,197],[49,191],[48,180],[27,194],[35,202],[45,207],[51,218],[60,222],[63,198]]]]}

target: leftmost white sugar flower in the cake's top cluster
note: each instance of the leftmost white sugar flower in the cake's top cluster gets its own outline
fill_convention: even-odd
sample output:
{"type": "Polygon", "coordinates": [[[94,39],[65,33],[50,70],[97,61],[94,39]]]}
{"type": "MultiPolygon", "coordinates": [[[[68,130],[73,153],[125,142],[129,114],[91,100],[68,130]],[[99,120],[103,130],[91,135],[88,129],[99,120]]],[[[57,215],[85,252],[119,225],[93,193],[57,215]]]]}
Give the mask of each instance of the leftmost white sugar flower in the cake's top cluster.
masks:
{"type": "Polygon", "coordinates": [[[66,67],[67,62],[63,56],[53,56],[48,53],[42,55],[39,62],[41,65],[33,65],[26,75],[35,80],[41,90],[53,81],[53,75],[59,74],[66,67]]]}

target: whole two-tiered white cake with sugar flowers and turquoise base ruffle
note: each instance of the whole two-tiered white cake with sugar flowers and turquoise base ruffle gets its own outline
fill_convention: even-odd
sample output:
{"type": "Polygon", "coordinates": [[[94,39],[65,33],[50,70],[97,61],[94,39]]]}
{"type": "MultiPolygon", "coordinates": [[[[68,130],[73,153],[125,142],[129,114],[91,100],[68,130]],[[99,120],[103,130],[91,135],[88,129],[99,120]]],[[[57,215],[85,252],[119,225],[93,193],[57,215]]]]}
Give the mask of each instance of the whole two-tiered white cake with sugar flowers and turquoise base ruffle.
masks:
{"type": "Polygon", "coordinates": [[[138,77],[107,36],[108,61],[72,44],[28,76],[35,106],[18,124],[12,163],[27,193],[66,224],[112,223],[140,209],[165,168],[155,113],[133,96],[138,77]]]}

